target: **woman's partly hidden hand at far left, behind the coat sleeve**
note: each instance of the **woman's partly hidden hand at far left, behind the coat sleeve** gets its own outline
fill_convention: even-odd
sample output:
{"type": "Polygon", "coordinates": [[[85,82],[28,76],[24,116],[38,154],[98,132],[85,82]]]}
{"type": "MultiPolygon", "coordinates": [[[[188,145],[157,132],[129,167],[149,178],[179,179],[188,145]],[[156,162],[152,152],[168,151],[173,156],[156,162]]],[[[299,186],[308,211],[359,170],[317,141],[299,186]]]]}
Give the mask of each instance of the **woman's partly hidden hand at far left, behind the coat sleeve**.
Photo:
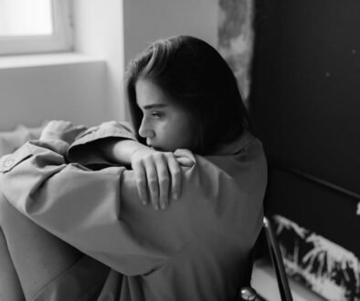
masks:
{"type": "Polygon", "coordinates": [[[64,140],[71,144],[84,130],[86,128],[82,125],[74,127],[69,121],[52,120],[41,132],[40,140],[64,140]]]}

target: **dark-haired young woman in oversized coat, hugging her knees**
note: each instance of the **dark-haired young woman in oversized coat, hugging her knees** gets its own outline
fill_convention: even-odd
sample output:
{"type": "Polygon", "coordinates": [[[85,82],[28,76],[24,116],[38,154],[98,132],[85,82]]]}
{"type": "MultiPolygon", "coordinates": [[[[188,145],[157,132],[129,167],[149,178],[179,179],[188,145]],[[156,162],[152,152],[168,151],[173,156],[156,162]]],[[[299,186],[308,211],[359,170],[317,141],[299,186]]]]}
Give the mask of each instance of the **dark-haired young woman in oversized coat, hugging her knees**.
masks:
{"type": "Polygon", "coordinates": [[[53,121],[1,159],[6,301],[237,297],[267,171],[233,73],[174,36],[132,60],[127,92],[134,131],[53,121]]]}

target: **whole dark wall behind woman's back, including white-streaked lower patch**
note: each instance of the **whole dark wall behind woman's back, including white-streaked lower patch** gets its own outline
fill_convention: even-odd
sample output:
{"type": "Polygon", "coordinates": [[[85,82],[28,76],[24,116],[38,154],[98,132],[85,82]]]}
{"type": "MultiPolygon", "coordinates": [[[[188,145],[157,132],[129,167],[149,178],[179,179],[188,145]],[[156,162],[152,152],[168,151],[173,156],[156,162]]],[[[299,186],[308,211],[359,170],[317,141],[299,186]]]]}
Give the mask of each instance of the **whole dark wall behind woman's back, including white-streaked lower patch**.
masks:
{"type": "Polygon", "coordinates": [[[357,300],[360,1],[255,1],[249,109],[270,164],[265,209],[279,214],[289,275],[357,300]]]}

